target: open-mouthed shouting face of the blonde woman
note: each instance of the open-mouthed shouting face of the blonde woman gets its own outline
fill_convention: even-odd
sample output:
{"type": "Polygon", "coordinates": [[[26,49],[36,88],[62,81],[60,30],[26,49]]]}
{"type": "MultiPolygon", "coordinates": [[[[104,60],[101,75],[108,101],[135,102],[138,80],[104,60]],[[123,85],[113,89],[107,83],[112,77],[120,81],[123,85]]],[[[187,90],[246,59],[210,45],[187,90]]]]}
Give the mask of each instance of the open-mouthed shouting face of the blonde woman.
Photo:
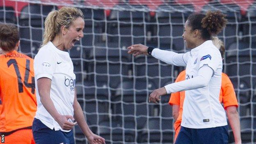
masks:
{"type": "Polygon", "coordinates": [[[85,28],[85,21],[78,17],[71,23],[69,28],[62,32],[63,34],[63,49],[70,50],[76,41],[80,41],[84,37],[83,29],[85,28]]]}

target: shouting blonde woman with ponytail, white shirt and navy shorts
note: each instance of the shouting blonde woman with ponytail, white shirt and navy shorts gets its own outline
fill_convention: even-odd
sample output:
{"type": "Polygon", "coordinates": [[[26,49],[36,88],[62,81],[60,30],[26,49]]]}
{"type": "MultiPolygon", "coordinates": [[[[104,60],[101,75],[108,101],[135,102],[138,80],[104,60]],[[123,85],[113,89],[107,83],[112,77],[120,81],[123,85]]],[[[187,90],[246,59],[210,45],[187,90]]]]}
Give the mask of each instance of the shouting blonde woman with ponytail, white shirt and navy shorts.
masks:
{"type": "Polygon", "coordinates": [[[73,63],[66,50],[83,37],[84,16],[73,7],[62,7],[48,14],[43,44],[34,59],[37,112],[33,135],[37,144],[74,144],[72,128],[76,123],[89,144],[105,139],[89,129],[77,101],[73,63]]]}

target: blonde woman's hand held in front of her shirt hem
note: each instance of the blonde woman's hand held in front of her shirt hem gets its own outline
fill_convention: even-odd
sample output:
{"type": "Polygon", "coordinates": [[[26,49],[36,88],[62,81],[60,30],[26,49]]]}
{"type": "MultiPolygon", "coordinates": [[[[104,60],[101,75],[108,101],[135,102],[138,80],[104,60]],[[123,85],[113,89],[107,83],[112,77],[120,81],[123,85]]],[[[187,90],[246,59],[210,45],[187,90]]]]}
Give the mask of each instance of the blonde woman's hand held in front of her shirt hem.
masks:
{"type": "Polygon", "coordinates": [[[69,115],[59,115],[56,119],[57,123],[59,123],[59,126],[63,129],[63,130],[71,130],[73,128],[73,126],[75,126],[75,124],[77,122],[70,122],[68,121],[68,119],[74,120],[74,118],[72,116],[69,115]]]}

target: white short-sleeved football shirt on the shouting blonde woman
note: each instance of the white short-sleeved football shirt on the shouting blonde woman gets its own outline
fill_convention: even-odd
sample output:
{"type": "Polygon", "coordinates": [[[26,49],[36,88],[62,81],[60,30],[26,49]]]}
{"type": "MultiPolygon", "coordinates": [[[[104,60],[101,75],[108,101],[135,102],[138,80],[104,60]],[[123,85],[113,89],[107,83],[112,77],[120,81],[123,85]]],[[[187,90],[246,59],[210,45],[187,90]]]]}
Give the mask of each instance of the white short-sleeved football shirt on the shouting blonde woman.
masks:
{"type": "MultiPolygon", "coordinates": [[[[50,98],[56,110],[61,115],[74,115],[73,103],[75,98],[75,73],[73,72],[73,62],[68,52],[56,48],[52,42],[48,42],[40,48],[34,58],[35,85],[39,78],[51,79],[50,98]]],[[[43,107],[37,91],[37,112],[35,118],[42,121],[50,129],[63,130],[57,121],[43,107]]]]}

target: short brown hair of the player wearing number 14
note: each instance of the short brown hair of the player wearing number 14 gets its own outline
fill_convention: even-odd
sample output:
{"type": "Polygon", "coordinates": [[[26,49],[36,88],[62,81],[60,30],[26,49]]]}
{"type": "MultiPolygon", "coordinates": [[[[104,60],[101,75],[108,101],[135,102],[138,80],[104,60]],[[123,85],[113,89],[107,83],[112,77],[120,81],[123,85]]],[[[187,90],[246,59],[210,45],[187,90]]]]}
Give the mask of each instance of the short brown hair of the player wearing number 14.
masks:
{"type": "Polygon", "coordinates": [[[2,50],[14,50],[19,39],[20,35],[16,26],[0,24],[0,48],[2,50]]]}

